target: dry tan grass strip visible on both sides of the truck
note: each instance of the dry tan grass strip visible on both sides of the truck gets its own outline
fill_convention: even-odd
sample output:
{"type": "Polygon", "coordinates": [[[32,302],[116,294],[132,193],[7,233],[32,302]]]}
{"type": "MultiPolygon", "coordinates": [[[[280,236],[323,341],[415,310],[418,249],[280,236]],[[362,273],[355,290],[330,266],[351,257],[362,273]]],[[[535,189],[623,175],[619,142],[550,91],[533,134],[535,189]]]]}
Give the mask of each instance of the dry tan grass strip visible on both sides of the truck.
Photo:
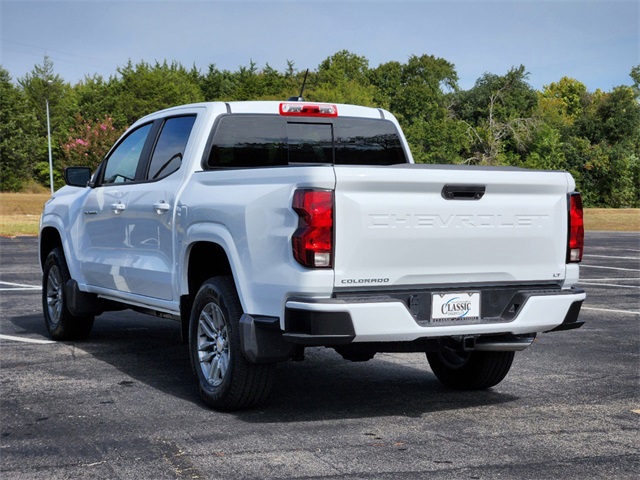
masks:
{"type": "MultiPolygon", "coordinates": [[[[37,235],[49,193],[0,193],[0,236],[37,235]]],[[[588,231],[640,232],[640,208],[587,208],[588,231]]]]}

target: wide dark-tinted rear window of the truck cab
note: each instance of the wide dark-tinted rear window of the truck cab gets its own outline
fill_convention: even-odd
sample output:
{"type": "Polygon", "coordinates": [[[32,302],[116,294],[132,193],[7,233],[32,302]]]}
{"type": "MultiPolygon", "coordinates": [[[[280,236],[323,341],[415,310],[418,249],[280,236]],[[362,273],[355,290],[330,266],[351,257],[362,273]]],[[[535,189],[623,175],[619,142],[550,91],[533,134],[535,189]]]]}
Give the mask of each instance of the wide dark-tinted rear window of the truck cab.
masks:
{"type": "Polygon", "coordinates": [[[209,168],[407,163],[395,125],[383,119],[237,114],[223,116],[214,128],[209,168]]]}

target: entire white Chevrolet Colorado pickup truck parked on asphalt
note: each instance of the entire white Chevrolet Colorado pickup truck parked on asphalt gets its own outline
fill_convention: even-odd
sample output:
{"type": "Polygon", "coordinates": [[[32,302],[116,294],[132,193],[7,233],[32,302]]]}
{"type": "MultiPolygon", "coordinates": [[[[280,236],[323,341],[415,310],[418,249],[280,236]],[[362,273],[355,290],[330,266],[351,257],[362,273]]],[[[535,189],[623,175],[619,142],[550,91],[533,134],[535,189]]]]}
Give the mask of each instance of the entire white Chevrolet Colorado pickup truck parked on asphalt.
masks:
{"type": "Polygon", "coordinates": [[[50,335],[174,318],[215,408],[263,403],[309,346],[425,352],[445,385],[489,388],[537,333],[582,325],[571,175],[414,164],[382,109],[175,107],[65,179],[40,229],[50,335]]]}

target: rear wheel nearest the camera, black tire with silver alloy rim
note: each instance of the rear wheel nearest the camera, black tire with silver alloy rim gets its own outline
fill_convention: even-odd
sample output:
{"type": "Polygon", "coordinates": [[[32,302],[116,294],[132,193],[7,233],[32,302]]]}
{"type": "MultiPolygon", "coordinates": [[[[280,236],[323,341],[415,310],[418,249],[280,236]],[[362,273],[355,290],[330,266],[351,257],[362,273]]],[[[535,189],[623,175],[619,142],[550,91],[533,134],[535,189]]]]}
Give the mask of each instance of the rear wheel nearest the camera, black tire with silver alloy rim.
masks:
{"type": "Polygon", "coordinates": [[[242,306],[228,276],[200,287],[189,319],[189,356],[202,399],[219,410],[262,405],[268,398],[275,363],[249,362],[240,346],[242,306]]]}

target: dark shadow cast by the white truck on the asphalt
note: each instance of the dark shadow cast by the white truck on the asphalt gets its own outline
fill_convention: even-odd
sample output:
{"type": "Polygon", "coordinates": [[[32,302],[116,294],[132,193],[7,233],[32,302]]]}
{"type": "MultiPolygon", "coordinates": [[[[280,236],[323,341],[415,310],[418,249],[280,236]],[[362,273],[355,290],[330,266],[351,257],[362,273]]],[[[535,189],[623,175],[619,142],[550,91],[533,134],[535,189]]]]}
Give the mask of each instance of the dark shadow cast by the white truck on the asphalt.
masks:
{"type": "MultiPolygon", "coordinates": [[[[14,317],[11,322],[24,333],[48,338],[40,315],[14,317]]],[[[91,360],[95,359],[121,373],[110,379],[114,385],[140,382],[209,410],[198,395],[177,322],[130,311],[109,313],[96,318],[87,340],[63,343],[89,355],[86,375],[101,369],[91,360]]],[[[278,365],[266,406],[231,414],[249,423],[419,417],[519,399],[499,390],[500,386],[480,392],[449,390],[431,373],[424,354],[378,354],[369,362],[356,363],[332,349],[308,348],[304,361],[278,365]]]]}

